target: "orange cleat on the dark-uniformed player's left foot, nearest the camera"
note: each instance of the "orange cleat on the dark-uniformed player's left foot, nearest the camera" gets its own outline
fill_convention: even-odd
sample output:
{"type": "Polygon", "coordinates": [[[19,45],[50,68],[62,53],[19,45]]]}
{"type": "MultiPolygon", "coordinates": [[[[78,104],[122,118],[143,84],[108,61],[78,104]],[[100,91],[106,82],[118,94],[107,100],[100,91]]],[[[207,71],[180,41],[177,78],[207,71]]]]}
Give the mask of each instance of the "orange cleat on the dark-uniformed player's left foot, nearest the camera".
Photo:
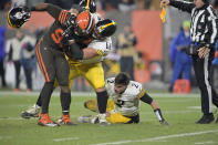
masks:
{"type": "Polygon", "coordinates": [[[48,126],[48,127],[55,127],[55,126],[59,126],[58,123],[53,122],[53,121],[50,118],[50,116],[49,116],[48,113],[45,113],[45,114],[40,114],[39,116],[40,116],[40,118],[39,118],[39,121],[38,121],[38,125],[48,126]]]}

